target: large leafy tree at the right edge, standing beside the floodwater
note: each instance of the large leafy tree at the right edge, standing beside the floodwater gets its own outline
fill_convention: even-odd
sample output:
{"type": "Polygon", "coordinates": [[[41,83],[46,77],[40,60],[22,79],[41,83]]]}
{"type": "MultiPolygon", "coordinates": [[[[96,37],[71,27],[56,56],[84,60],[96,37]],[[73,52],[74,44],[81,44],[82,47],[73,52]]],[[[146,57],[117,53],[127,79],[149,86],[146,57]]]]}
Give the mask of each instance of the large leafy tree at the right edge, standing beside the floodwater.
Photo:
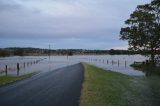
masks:
{"type": "Polygon", "coordinates": [[[157,50],[160,49],[160,0],[138,5],[121,28],[120,39],[128,40],[129,49],[149,55],[155,64],[157,50]],[[147,51],[147,52],[146,52],[147,51]]]}

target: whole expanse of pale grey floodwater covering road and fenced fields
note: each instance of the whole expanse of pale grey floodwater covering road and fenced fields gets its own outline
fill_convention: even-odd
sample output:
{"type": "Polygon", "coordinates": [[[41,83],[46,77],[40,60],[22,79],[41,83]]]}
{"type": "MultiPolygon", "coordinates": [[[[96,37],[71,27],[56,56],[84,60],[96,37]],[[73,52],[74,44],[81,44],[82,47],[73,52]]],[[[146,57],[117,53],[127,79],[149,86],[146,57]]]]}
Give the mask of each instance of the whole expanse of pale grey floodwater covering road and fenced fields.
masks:
{"type": "Polygon", "coordinates": [[[31,72],[47,72],[66,67],[78,62],[93,64],[106,70],[112,70],[131,76],[145,76],[145,73],[130,67],[134,61],[142,62],[147,58],[141,55],[76,55],[76,56],[14,56],[0,58],[0,75],[5,75],[7,65],[8,75],[17,75],[31,72]]]}

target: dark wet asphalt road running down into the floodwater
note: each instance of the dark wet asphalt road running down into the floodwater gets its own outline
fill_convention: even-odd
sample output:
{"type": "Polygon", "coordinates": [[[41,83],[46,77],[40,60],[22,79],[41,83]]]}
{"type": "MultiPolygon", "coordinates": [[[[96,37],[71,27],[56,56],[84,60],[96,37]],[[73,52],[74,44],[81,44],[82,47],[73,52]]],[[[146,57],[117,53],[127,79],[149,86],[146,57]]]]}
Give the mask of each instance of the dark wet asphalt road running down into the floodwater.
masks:
{"type": "Polygon", "coordinates": [[[37,74],[0,87],[0,106],[78,106],[83,66],[37,74]]]}

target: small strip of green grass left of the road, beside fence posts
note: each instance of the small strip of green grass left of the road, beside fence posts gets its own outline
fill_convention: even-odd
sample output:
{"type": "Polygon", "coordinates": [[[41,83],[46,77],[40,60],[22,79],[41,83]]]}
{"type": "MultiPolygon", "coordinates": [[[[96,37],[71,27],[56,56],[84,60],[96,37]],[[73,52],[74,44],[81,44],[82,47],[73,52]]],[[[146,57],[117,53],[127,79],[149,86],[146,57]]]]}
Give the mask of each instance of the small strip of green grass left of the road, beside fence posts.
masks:
{"type": "Polygon", "coordinates": [[[35,74],[36,73],[30,73],[30,74],[25,74],[21,76],[0,76],[0,85],[4,85],[4,84],[8,84],[8,83],[15,82],[18,80],[22,80],[25,78],[29,78],[35,74]]]}

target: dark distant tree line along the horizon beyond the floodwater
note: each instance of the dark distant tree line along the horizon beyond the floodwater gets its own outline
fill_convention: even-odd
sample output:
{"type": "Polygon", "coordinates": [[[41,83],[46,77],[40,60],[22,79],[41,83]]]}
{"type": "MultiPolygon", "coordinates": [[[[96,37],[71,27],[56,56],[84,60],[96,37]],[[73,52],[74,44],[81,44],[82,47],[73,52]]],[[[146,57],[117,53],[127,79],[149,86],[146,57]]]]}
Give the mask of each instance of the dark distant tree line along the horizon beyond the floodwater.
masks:
{"type": "Polygon", "coordinates": [[[141,51],[130,50],[87,50],[87,49],[40,49],[40,48],[0,48],[0,57],[5,56],[47,56],[47,55],[132,55],[141,51]]]}

